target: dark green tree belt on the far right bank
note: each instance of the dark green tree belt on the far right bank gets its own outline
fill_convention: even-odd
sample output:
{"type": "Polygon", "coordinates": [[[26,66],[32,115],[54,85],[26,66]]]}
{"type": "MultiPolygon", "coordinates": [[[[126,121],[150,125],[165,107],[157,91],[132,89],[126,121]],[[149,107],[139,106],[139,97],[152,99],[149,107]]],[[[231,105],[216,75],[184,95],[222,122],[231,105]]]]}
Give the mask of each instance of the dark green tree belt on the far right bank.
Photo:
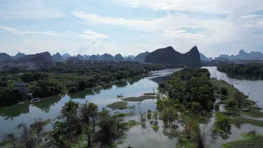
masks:
{"type": "Polygon", "coordinates": [[[255,74],[263,75],[263,64],[251,63],[251,64],[227,64],[217,66],[217,70],[225,73],[233,74],[255,74]]]}

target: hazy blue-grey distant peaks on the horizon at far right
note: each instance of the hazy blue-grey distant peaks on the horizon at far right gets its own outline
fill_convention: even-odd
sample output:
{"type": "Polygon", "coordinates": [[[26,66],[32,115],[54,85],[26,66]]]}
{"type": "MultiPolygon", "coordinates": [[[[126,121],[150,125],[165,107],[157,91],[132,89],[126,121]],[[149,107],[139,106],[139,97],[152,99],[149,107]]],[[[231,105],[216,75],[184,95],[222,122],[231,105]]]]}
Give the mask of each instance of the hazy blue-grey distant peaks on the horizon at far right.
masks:
{"type": "Polygon", "coordinates": [[[228,55],[220,55],[218,56],[219,58],[228,58],[228,60],[234,60],[234,59],[244,59],[244,60],[249,60],[249,59],[263,59],[263,54],[261,52],[250,52],[246,53],[244,50],[240,50],[239,54],[234,56],[228,56],[228,55]]]}

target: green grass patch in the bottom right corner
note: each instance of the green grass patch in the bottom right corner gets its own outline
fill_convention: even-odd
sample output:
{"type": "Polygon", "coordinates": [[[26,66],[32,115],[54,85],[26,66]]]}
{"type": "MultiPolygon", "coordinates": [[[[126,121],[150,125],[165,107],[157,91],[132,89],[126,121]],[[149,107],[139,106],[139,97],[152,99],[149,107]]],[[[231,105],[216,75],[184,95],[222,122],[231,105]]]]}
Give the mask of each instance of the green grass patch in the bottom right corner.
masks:
{"type": "Polygon", "coordinates": [[[263,136],[259,134],[242,134],[244,139],[223,144],[223,148],[262,148],[263,136]]]}

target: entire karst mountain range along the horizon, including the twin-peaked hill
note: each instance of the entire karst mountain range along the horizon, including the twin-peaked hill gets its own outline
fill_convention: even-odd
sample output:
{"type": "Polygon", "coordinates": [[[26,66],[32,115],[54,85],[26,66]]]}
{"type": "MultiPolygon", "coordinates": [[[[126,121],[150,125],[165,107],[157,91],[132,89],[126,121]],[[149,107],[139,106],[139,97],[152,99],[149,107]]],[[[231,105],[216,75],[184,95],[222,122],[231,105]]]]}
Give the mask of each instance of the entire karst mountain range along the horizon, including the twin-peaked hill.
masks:
{"type": "MultiPolygon", "coordinates": [[[[54,54],[53,56],[50,55],[49,52],[44,53],[38,53],[35,55],[25,55],[23,53],[18,53],[16,56],[9,56],[6,53],[0,53],[0,61],[6,61],[6,60],[19,60],[19,61],[27,61],[27,62],[63,62],[69,60],[103,60],[103,61],[137,61],[137,62],[150,62],[150,63],[180,63],[184,65],[191,65],[189,63],[192,63],[192,61],[197,62],[197,65],[199,64],[197,55],[200,55],[201,61],[211,61],[213,60],[212,57],[207,57],[202,53],[199,53],[197,47],[194,47],[186,54],[181,54],[177,51],[175,51],[172,47],[157,49],[152,53],[145,52],[140,53],[137,56],[122,56],[120,54],[117,54],[115,56],[112,56],[110,54],[103,54],[103,55],[80,55],[77,56],[71,56],[68,53],[65,53],[63,55],[60,55],[59,53],[54,54]],[[150,54],[150,56],[148,56],[150,54]],[[186,57],[187,56],[187,57],[186,57]],[[76,58],[72,58],[76,57],[76,58]],[[147,60],[146,60],[147,57],[147,60]],[[185,57],[185,58],[184,58],[185,57]],[[191,57],[191,58],[190,58],[191,57]],[[194,59],[193,59],[194,58],[194,59]],[[189,61],[189,63],[188,63],[189,61]]],[[[244,50],[240,50],[239,54],[234,56],[228,56],[228,55],[220,55],[219,57],[228,58],[229,60],[234,59],[263,59],[263,54],[261,52],[251,52],[246,53],[244,50]]]]}

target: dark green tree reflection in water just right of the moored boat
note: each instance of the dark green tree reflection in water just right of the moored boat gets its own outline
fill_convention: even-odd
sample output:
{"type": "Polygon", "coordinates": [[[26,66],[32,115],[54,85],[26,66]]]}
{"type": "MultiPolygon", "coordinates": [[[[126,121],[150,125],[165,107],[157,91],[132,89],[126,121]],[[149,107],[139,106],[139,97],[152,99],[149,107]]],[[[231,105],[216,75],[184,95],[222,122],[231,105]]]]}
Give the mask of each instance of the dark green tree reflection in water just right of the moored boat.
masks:
{"type": "Polygon", "coordinates": [[[51,106],[54,106],[58,101],[61,100],[61,96],[51,96],[44,98],[38,102],[34,102],[33,105],[37,108],[39,108],[41,111],[49,112],[49,109],[51,106]]]}

